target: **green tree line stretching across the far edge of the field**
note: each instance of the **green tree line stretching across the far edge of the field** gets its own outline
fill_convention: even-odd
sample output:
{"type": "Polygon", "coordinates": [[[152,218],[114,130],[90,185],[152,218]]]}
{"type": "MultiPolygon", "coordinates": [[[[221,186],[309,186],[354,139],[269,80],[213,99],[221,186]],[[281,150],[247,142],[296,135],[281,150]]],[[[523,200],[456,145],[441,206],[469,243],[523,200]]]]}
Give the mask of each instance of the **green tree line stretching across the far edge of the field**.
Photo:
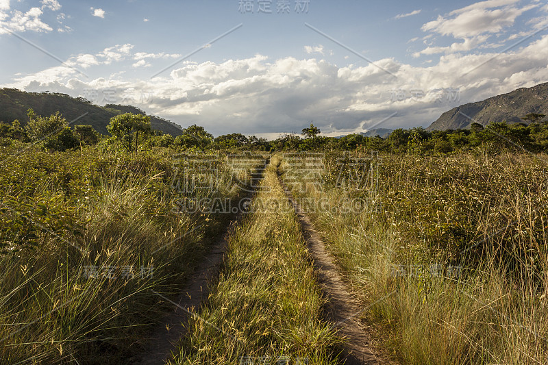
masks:
{"type": "Polygon", "coordinates": [[[27,111],[29,120],[24,127],[19,121],[0,123],[2,144],[10,140],[42,142],[45,149],[66,151],[94,144],[105,144],[128,152],[151,147],[173,147],[183,150],[242,149],[255,151],[325,151],[376,150],[399,153],[451,153],[477,147],[488,149],[526,149],[532,152],[548,151],[548,121],[544,114],[523,116],[526,123],[489,123],[486,127],[472,123],[469,129],[427,131],[423,127],[395,129],[387,138],[350,134],[340,138],[320,136],[320,129],[310,123],[301,134],[284,134],[275,140],[266,140],[240,133],[214,138],[204,127],[190,125],[182,134],[173,137],[153,131],[149,116],[125,113],[110,118],[107,130],[111,136],[99,134],[91,125],[69,127],[59,112],[39,116],[27,111]]]}

